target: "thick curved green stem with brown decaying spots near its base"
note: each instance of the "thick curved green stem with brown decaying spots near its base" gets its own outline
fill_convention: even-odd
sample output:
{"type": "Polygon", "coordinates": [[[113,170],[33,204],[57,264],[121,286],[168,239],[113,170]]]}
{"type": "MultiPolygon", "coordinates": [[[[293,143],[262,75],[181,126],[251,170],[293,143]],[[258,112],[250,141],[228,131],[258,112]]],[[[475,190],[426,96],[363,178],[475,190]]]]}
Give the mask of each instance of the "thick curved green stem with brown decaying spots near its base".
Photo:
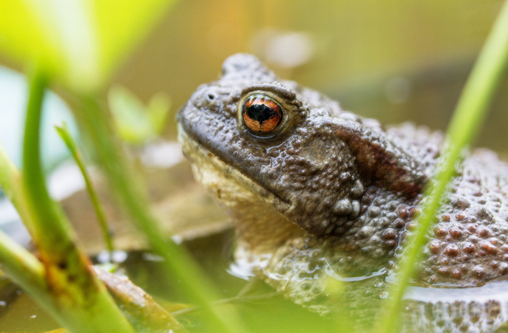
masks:
{"type": "Polygon", "coordinates": [[[105,286],[91,273],[88,257],[77,248],[69,221],[47,192],[40,165],[41,104],[47,79],[38,68],[30,81],[23,143],[23,184],[32,237],[44,266],[56,319],[73,333],[134,333],[105,286]]]}

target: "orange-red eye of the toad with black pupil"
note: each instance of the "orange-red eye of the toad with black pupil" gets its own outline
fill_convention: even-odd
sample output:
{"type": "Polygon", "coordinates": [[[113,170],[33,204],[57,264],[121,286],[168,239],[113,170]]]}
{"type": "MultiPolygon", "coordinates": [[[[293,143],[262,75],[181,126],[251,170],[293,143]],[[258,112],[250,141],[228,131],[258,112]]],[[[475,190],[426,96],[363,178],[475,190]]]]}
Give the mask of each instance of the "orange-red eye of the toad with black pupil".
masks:
{"type": "Polygon", "coordinates": [[[255,133],[273,131],[282,120],[282,110],[277,102],[266,95],[252,95],[242,106],[245,126],[255,133]]]}

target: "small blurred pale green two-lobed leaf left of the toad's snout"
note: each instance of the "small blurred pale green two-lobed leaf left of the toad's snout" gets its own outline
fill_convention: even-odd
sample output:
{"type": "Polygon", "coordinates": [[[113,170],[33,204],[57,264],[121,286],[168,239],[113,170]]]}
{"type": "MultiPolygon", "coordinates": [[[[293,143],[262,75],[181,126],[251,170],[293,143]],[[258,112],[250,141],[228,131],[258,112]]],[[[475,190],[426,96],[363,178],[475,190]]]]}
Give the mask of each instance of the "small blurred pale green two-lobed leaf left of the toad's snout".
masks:
{"type": "Polygon", "coordinates": [[[108,103],[121,138],[132,144],[143,144],[164,129],[170,108],[169,98],[159,93],[147,106],[128,89],[114,85],[108,92],[108,103]]]}

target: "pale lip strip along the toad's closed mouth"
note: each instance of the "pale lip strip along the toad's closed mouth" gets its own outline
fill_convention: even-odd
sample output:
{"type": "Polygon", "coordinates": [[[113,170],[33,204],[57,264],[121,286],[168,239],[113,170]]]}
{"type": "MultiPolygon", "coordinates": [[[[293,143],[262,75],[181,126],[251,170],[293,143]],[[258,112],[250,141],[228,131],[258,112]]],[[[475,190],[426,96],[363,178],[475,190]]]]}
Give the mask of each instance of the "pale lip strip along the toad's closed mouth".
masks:
{"type": "Polygon", "coordinates": [[[284,214],[288,211],[293,210],[293,205],[282,199],[280,196],[274,194],[273,192],[266,189],[264,186],[256,183],[252,179],[250,179],[247,175],[242,173],[240,170],[235,168],[234,166],[227,164],[224,160],[220,159],[217,155],[210,152],[210,150],[206,149],[201,143],[199,143],[194,138],[190,137],[189,134],[183,129],[182,125],[178,123],[178,142],[182,146],[182,150],[184,155],[188,156],[189,154],[185,154],[186,150],[199,154],[203,159],[207,160],[213,166],[223,171],[225,174],[236,180],[239,184],[243,185],[246,189],[250,190],[253,193],[256,193],[261,198],[263,198],[267,203],[273,205],[280,213],[284,214]]]}

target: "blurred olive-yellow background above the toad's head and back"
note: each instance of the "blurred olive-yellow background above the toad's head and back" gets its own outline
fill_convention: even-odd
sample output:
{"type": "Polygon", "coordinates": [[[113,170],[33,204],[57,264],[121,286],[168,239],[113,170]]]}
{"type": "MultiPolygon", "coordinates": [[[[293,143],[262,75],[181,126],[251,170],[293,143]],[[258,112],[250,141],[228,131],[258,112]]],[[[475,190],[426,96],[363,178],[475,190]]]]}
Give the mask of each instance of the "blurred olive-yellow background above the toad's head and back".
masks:
{"type": "MultiPolygon", "coordinates": [[[[385,125],[410,120],[444,130],[501,3],[181,1],[115,81],[144,101],[163,90],[174,113],[199,84],[217,77],[227,56],[251,52],[281,77],[320,90],[360,115],[385,125]],[[284,57],[290,59],[284,63],[284,57]]],[[[504,157],[507,92],[504,79],[477,141],[504,157]]],[[[165,134],[174,138],[169,118],[165,134]]]]}

